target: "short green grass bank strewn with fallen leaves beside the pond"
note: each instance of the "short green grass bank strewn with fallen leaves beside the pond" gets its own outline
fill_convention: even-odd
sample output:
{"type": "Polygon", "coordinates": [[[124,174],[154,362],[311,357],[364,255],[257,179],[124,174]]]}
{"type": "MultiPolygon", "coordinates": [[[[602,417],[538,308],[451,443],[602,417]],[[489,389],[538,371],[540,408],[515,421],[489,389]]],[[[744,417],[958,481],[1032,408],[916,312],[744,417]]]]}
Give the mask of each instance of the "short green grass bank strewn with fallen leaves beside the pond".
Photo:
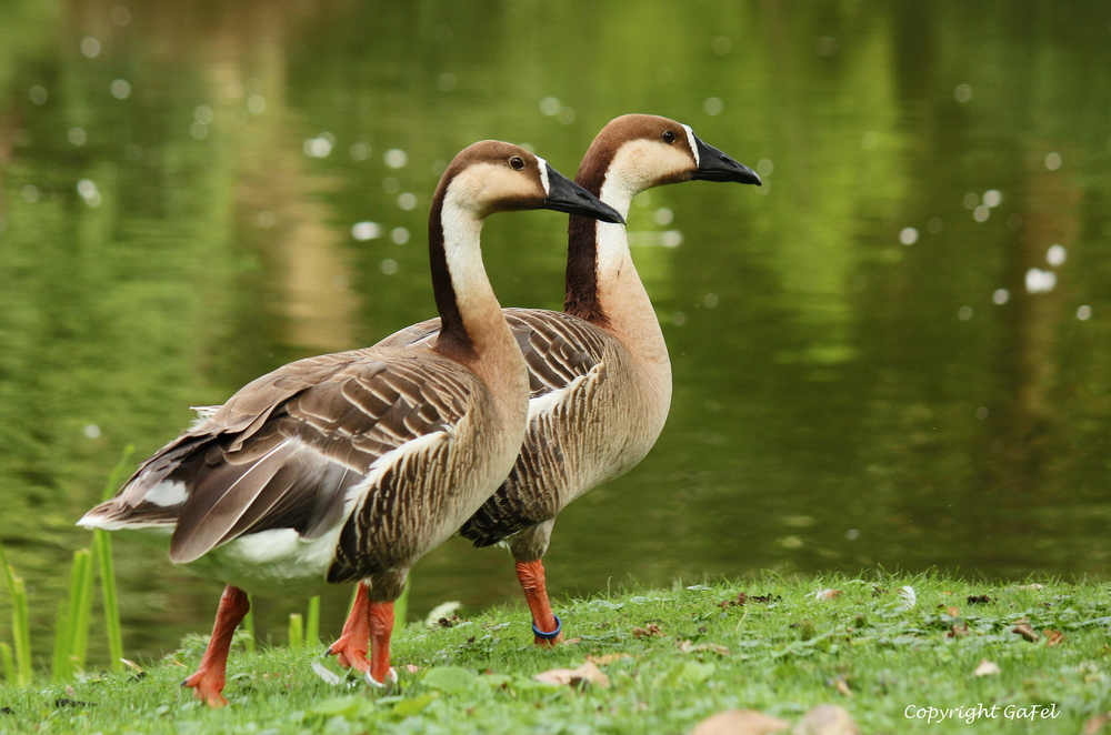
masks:
{"type": "Polygon", "coordinates": [[[658,734],[687,733],[721,709],[797,722],[812,706],[833,703],[864,733],[1079,733],[1111,708],[1111,585],[1043,584],[769,576],[557,601],[565,634],[577,642],[553,651],[533,647],[523,607],[494,610],[451,628],[411,624],[399,632],[400,683],[386,693],[359,679],[326,681],[314,664],[341,672],[322,657],[323,644],[251,654],[239,643],[224,692],[231,704],[222,711],[199,706],[178,686],[206,643],[190,636],[178,653],[144,664],[141,678],[102,674],[71,689],[0,688],[0,706],[11,711],[0,715],[0,731],[658,734]],[[913,607],[900,592],[904,585],[915,592],[913,607]],[[815,598],[823,588],[842,594],[815,598]],[[742,592],[745,604],[730,605],[742,592]],[[990,600],[970,602],[974,595],[990,600]],[[1037,642],[1012,632],[1022,618],[1037,642]],[[967,635],[948,635],[964,625],[967,635]],[[659,634],[638,637],[635,628],[652,626],[659,634]],[[1049,645],[1044,630],[1062,632],[1063,641],[1049,645]],[[588,655],[609,656],[600,666],[610,687],[533,678],[588,655]],[[1000,673],[974,676],[982,661],[1000,673]],[[62,698],[86,704],[57,704],[62,698]],[[909,706],[979,703],[998,705],[998,716],[973,725],[904,716],[909,706]],[[1055,704],[1059,716],[1003,716],[1009,705],[1033,704],[1055,704]]]}

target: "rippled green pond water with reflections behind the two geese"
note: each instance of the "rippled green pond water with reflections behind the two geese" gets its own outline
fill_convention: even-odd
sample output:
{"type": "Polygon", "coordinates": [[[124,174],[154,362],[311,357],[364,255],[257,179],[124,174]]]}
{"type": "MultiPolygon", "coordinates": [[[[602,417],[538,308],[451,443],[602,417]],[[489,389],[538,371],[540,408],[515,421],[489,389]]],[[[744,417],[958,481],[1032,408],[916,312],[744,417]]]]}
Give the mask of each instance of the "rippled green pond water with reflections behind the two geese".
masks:
{"type": "MultiPolygon", "coordinates": [[[[638,198],[674,402],[651,455],[560,516],[557,601],[762,570],[1111,571],[1111,4],[808,4],[8,3],[0,541],[37,653],[126,445],[432,315],[427,211],[461,148],[573,174],[634,111],[765,185],[638,198]]],[[[503,304],[561,305],[564,233],[491,219],[503,304]]],[[[218,585],[116,555],[130,654],[208,632],[218,585]]],[[[413,581],[411,617],[519,594],[506,552],[459,540],[413,581]]],[[[263,635],[303,606],[260,603],[263,635]]]]}

